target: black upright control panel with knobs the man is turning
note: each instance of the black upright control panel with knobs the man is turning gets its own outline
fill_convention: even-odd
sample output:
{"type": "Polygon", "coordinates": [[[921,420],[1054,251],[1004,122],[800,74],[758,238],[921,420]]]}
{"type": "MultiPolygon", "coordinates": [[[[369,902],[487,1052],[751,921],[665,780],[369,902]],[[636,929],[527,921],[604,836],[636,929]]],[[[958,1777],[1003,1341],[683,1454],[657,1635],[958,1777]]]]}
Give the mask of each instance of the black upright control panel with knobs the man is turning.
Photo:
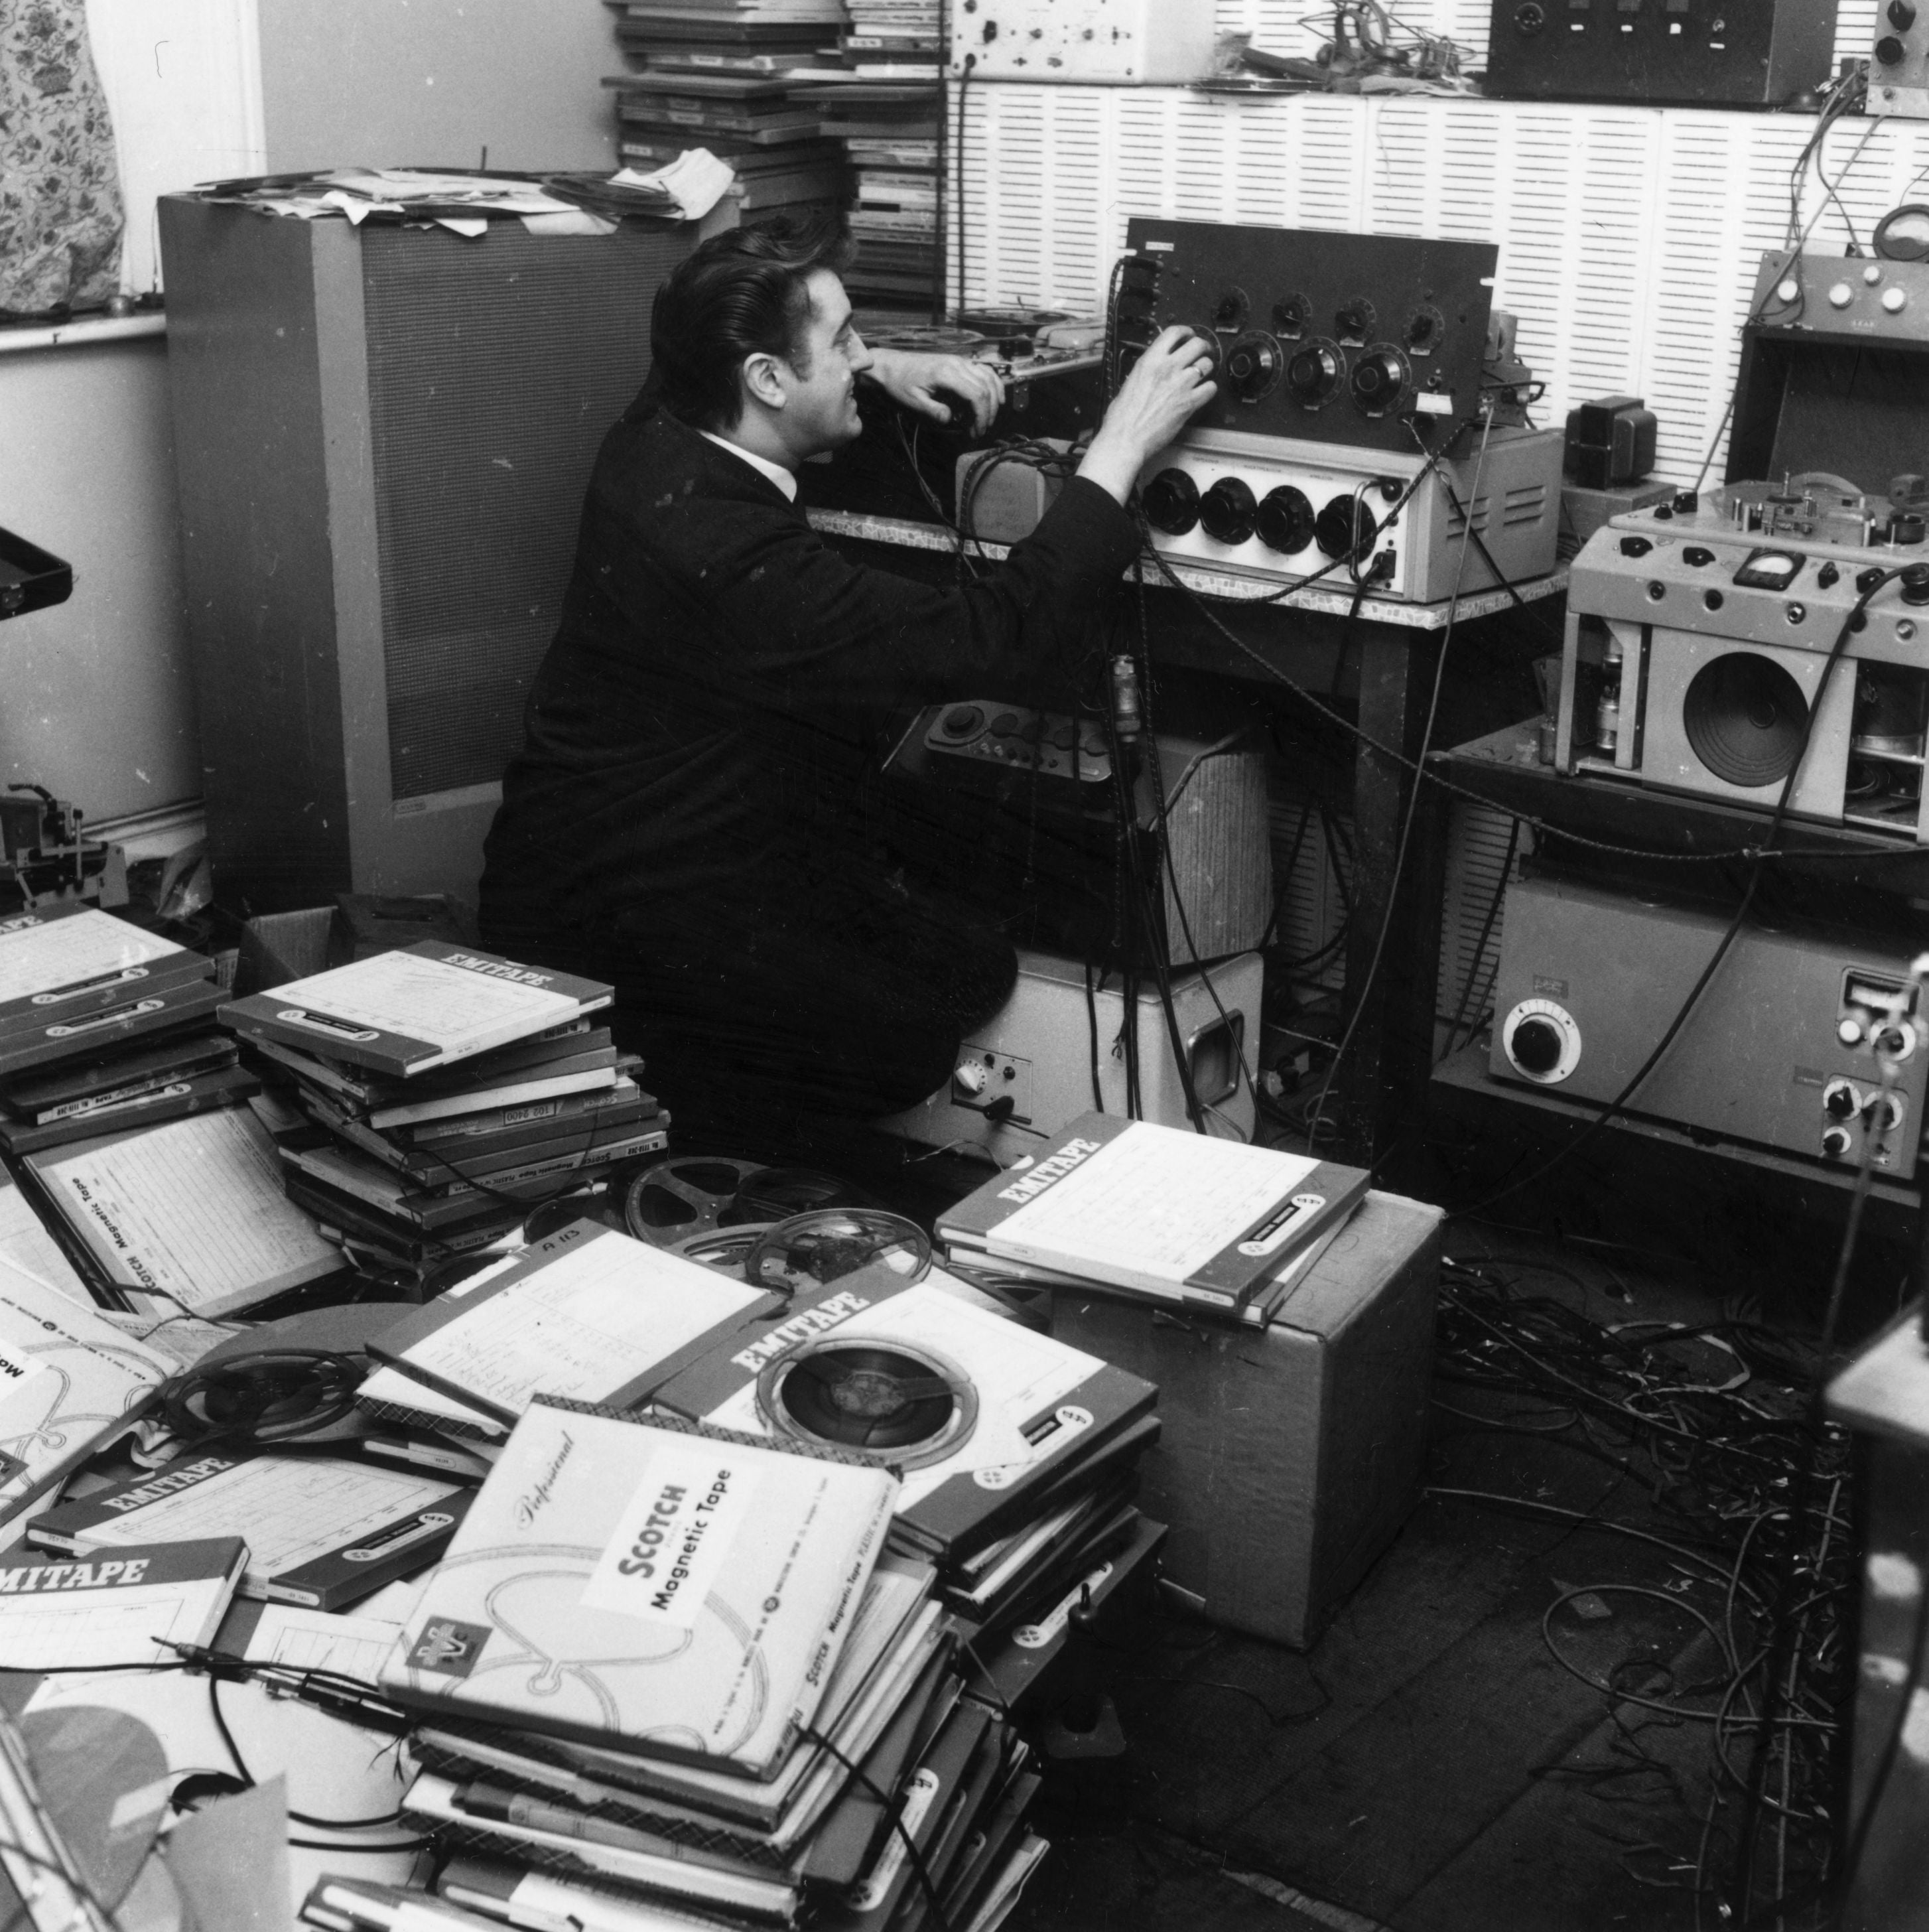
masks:
{"type": "Polygon", "coordinates": [[[1197,328],[1218,383],[1199,429],[1412,454],[1481,412],[1487,242],[1135,216],[1126,245],[1116,373],[1162,328],[1197,328]]]}

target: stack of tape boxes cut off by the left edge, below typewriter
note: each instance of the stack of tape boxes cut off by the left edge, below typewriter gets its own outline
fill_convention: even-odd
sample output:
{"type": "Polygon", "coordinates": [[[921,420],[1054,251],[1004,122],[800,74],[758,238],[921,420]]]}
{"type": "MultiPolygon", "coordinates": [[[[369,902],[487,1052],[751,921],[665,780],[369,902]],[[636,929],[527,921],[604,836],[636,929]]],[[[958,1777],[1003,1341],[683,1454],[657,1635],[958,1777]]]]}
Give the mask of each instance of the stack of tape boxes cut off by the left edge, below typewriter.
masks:
{"type": "Polygon", "coordinates": [[[0,1148],[33,1153],[232,1107],[257,1082],[214,1024],[214,962],[110,912],[0,922],[0,1148]]]}

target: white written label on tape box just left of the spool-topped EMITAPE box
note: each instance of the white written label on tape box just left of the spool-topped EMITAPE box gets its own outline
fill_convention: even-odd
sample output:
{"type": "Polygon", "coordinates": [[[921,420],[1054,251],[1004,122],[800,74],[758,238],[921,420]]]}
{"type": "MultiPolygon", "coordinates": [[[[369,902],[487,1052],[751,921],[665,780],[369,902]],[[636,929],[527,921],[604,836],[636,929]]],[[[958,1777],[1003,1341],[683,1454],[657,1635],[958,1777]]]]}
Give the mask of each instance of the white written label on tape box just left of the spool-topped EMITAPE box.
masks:
{"type": "Polygon", "coordinates": [[[402,1356],[521,1412],[539,1389],[597,1401],[757,1298],[740,1281],[633,1240],[589,1240],[423,1337],[402,1356]]]}

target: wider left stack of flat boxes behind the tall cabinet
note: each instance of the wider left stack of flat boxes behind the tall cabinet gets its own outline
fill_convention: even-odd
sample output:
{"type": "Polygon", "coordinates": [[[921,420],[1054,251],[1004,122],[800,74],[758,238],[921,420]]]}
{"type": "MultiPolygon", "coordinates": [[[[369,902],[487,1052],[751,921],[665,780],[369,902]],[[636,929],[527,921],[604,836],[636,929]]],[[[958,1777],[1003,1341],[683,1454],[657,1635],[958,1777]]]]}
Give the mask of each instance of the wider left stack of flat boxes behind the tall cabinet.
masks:
{"type": "Polygon", "coordinates": [[[653,172],[691,147],[736,170],[743,222],[836,213],[842,143],[794,87],[836,70],[842,0],[610,0],[628,71],[606,85],[618,158],[653,172]]]}

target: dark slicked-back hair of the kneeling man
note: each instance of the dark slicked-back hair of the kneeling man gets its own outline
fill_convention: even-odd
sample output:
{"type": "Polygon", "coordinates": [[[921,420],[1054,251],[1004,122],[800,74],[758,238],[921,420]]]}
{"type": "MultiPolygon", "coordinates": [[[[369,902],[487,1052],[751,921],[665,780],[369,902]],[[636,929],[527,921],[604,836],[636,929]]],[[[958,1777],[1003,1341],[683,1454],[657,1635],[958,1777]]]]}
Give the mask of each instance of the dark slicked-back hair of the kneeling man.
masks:
{"type": "Polygon", "coordinates": [[[809,342],[809,280],[848,259],[840,222],[778,218],[726,228],[678,263],[649,325],[651,386],[670,413],[693,429],[728,429],[743,406],[743,359],[780,355],[796,367],[809,342]]]}

